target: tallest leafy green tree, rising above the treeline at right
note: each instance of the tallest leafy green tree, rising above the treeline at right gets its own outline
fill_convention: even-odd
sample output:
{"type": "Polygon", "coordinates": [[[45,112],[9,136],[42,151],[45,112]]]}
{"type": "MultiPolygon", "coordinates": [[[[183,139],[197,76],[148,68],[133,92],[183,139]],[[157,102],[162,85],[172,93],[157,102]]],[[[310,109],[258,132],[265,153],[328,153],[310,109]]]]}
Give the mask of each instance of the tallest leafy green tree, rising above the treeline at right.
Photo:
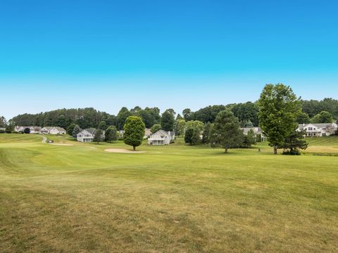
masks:
{"type": "Polygon", "coordinates": [[[297,128],[296,117],[301,112],[300,98],[296,97],[289,86],[267,84],[258,105],[259,124],[269,145],[273,146],[273,153],[277,154],[277,148],[297,128]]]}

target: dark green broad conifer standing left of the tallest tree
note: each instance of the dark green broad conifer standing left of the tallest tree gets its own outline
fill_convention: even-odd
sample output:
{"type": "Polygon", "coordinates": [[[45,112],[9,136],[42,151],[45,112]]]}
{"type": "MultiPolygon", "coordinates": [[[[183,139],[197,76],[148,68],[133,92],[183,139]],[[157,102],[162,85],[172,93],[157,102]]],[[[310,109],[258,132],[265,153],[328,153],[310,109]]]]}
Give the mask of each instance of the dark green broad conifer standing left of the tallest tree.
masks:
{"type": "Polygon", "coordinates": [[[229,110],[223,110],[218,113],[213,126],[215,140],[225,148],[225,153],[229,148],[236,148],[242,143],[243,131],[239,129],[237,117],[229,110]]]}

